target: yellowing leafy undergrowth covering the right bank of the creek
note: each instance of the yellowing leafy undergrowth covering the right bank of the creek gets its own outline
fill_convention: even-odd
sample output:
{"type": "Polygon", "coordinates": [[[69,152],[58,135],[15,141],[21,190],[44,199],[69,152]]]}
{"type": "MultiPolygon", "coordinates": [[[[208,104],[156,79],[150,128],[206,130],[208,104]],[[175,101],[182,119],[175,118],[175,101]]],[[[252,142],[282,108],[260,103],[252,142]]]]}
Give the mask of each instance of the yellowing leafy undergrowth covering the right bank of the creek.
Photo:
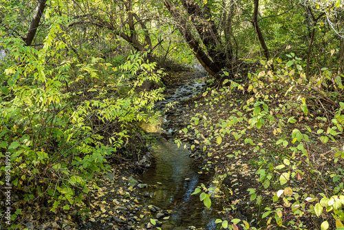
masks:
{"type": "MultiPolygon", "coordinates": [[[[230,200],[224,199],[228,218],[217,220],[220,228],[343,227],[343,75],[323,68],[307,83],[299,59],[289,56],[288,63],[261,61],[247,81],[208,88],[202,104],[195,102],[207,112],[195,114],[183,129],[184,137],[197,136],[192,148],[202,147],[208,163],[218,165],[223,186],[217,194],[230,200]],[[250,178],[248,185],[237,180],[238,171],[250,178]],[[231,198],[235,191],[225,186],[228,180],[249,186],[248,200],[231,198]],[[246,218],[237,215],[239,207],[246,218]]],[[[199,187],[194,194],[201,191],[200,199],[211,207],[216,193],[199,187]]]]}

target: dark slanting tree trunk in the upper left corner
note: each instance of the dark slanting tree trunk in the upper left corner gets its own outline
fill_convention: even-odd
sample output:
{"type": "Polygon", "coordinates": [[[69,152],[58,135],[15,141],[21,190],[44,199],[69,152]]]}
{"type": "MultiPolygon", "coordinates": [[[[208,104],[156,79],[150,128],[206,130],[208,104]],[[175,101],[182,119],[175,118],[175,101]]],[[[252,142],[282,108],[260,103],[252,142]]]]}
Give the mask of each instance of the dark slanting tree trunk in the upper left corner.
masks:
{"type": "Polygon", "coordinates": [[[39,21],[41,21],[46,2],[47,0],[39,0],[36,7],[34,8],[34,16],[32,17],[30,28],[28,30],[28,33],[23,37],[26,45],[31,45],[34,39],[34,34],[36,34],[37,28],[39,27],[39,21]]]}

